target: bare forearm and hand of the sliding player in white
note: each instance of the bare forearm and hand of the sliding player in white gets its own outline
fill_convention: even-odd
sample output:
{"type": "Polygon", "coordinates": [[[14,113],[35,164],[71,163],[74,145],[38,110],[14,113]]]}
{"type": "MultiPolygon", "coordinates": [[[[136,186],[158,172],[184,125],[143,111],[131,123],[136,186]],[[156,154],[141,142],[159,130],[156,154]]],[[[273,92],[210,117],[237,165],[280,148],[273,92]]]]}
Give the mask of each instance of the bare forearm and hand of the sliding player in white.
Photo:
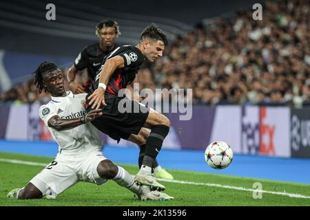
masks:
{"type": "Polygon", "coordinates": [[[48,120],[48,126],[56,129],[57,131],[64,131],[68,129],[73,129],[76,126],[81,124],[86,124],[87,122],[91,122],[95,118],[102,115],[102,109],[91,110],[82,118],[73,118],[73,119],[63,119],[60,118],[59,115],[54,115],[50,120],[48,120]]]}

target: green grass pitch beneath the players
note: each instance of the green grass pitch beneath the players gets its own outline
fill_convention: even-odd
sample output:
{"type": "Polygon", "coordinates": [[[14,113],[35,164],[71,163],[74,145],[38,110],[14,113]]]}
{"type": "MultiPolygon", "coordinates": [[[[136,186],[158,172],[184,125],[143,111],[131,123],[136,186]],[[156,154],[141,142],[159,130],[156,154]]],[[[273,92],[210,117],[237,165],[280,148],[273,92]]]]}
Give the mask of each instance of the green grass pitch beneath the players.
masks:
{"type": "MultiPolygon", "coordinates": [[[[2,159],[18,159],[29,162],[48,164],[51,157],[37,157],[0,153],[2,159]]],[[[132,175],[138,171],[137,166],[118,164],[126,168],[132,175]]],[[[175,197],[174,201],[139,201],[132,192],[121,188],[113,181],[102,186],[79,182],[65,190],[56,199],[17,200],[6,198],[13,188],[21,188],[37,175],[43,166],[30,166],[0,162],[0,206],[309,206],[309,198],[288,197],[262,193],[262,199],[254,199],[252,191],[236,190],[214,186],[199,186],[180,184],[178,182],[160,181],[166,186],[165,192],[175,197]]],[[[194,183],[220,184],[253,189],[255,182],[262,184],[262,190],[271,192],[287,192],[310,197],[310,185],[294,184],[284,181],[269,181],[232,177],[228,175],[213,175],[208,173],[169,170],[178,181],[194,183]]]]}

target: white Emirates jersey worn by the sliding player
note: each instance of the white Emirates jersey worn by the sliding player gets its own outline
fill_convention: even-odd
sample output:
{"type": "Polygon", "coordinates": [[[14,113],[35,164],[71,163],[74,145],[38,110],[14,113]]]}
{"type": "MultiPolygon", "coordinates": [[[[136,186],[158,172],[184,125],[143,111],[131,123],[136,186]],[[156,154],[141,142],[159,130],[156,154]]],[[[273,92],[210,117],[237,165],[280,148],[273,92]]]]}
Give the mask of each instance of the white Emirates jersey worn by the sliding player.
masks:
{"type": "Polygon", "coordinates": [[[59,153],[63,151],[66,154],[85,154],[96,149],[101,151],[103,147],[99,131],[91,122],[65,131],[57,131],[48,126],[48,120],[54,115],[59,115],[63,119],[81,118],[86,115],[84,108],[86,96],[87,94],[72,94],[72,91],[67,91],[67,96],[52,96],[52,100],[39,109],[41,120],[59,144],[59,153]]]}

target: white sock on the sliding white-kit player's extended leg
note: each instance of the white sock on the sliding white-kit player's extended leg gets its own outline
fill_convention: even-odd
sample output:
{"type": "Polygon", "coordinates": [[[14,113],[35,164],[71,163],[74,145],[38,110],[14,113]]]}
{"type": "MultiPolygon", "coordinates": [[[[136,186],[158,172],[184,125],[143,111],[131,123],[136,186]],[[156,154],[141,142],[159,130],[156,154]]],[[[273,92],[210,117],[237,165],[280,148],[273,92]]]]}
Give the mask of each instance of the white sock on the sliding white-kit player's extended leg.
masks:
{"type": "Polygon", "coordinates": [[[117,166],[118,167],[118,172],[116,176],[112,179],[113,181],[116,182],[119,186],[123,186],[127,188],[128,190],[134,192],[136,195],[141,194],[141,187],[136,185],[134,183],[134,177],[130,175],[130,173],[127,172],[123,167],[117,166]]]}

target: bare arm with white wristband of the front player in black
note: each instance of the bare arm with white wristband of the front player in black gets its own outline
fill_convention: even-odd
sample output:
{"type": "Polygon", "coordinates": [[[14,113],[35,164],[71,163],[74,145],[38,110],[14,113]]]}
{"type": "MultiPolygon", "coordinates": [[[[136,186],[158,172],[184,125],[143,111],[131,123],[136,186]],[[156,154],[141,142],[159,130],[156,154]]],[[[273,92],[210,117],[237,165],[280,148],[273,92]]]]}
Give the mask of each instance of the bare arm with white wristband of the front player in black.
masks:
{"type": "Polygon", "coordinates": [[[94,91],[92,95],[88,97],[90,100],[90,105],[92,109],[99,109],[101,104],[105,104],[105,89],[107,88],[107,83],[109,83],[110,77],[116,69],[121,69],[125,66],[124,59],[121,56],[114,56],[103,65],[99,78],[99,87],[94,91]]]}

